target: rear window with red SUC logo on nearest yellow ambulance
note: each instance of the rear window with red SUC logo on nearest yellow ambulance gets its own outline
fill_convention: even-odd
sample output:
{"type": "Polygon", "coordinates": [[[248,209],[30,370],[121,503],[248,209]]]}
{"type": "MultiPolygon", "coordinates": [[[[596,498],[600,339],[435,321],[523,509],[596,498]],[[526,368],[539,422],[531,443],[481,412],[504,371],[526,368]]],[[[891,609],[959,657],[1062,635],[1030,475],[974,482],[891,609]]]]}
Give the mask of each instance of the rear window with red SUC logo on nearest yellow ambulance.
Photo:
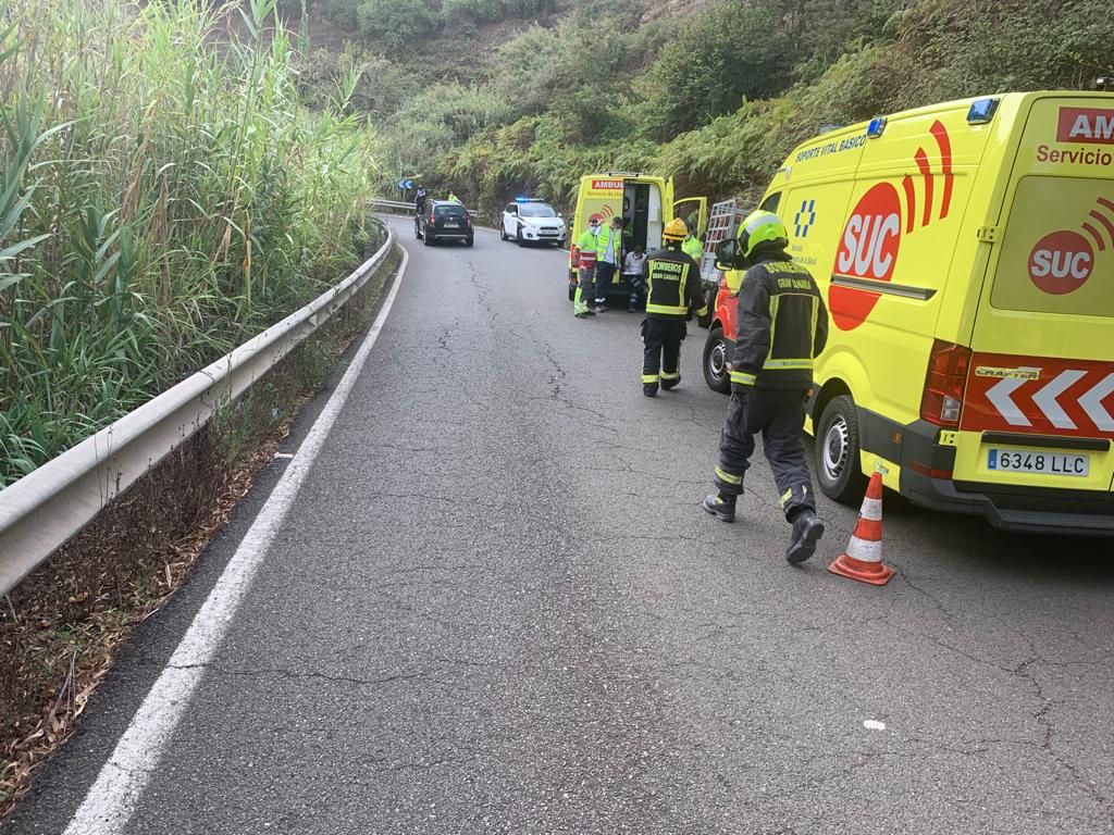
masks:
{"type": "Polygon", "coordinates": [[[1114,180],[1022,178],[990,304],[1003,311],[1114,316],[1114,180]]]}

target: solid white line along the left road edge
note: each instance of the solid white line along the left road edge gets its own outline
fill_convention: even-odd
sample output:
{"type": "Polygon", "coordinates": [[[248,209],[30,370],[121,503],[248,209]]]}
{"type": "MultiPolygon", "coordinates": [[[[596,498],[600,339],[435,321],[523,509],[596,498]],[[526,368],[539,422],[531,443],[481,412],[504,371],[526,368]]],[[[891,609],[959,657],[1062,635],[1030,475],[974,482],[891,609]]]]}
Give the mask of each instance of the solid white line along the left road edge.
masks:
{"type": "Polygon", "coordinates": [[[217,580],[170,657],[163,675],[158,677],[147,698],[139,706],[131,724],[117,743],[113,756],[100,769],[97,782],[85,796],[65,835],[116,835],[123,832],[130,819],[140,793],[158,766],[164,746],[174,734],[183,711],[202,679],[205,666],[216,655],[236,613],[236,607],[251,586],[252,578],[262,564],[271,541],[293,504],[306,473],[310,472],[314,459],[336,421],[336,415],[340,414],[355,384],[368,354],[371,353],[383,330],[383,323],[402,285],[407,261],[407,252],[403,249],[394,286],[388,294],[383,308],[375,317],[375,323],[364,337],[363,344],[360,345],[359,352],[352,358],[352,364],[341,377],[341,382],[310,429],[297,454],[286,466],[266,503],[260,510],[236,553],[225,567],[221,579],[217,580]]]}

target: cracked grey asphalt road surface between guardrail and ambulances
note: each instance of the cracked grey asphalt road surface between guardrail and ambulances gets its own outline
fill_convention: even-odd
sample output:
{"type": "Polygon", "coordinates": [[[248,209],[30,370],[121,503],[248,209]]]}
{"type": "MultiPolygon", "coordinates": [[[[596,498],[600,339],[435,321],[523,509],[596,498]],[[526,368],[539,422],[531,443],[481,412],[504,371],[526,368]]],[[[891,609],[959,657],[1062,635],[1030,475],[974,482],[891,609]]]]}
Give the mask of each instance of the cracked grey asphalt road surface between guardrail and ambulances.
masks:
{"type": "MultiPolygon", "coordinates": [[[[639,317],[574,320],[564,253],[397,223],[381,338],[124,832],[1114,831],[1108,540],[888,495],[888,587],[825,571],[829,502],[792,568],[764,461],[736,524],[700,509],[704,331],[646,400],[639,317]]],[[[283,465],[7,832],[65,829],[283,465]]]]}

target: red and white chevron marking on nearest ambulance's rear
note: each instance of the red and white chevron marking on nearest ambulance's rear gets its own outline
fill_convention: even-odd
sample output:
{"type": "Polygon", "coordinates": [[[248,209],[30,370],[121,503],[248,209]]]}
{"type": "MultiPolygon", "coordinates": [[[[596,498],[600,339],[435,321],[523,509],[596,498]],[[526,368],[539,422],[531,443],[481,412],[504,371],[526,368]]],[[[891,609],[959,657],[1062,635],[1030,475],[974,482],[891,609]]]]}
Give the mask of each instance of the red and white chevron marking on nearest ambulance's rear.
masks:
{"type": "Polygon", "coordinates": [[[975,354],[959,428],[1114,438],[1114,362],[975,354]]]}

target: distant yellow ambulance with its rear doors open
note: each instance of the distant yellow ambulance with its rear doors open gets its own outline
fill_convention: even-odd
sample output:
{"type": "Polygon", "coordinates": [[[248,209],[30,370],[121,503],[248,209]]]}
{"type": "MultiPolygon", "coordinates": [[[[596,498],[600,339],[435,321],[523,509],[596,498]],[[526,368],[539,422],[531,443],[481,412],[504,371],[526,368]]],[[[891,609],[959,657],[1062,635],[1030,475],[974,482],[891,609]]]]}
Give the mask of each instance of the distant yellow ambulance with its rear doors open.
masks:
{"type": "MultiPolygon", "coordinates": [[[[662,230],[674,217],[686,224],[698,225],[701,232],[707,225],[707,198],[686,197],[673,199],[673,179],[649,174],[606,171],[586,174],[580,177],[573,214],[573,229],[569,236],[568,298],[576,294],[577,248],[576,242],[588,228],[588,220],[598,219],[609,224],[612,218],[622,217],[623,246],[626,252],[641,244],[644,252],[662,246],[662,230]]],[[[613,288],[618,292],[623,279],[622,271],[615,272],[613,288]]]]}

